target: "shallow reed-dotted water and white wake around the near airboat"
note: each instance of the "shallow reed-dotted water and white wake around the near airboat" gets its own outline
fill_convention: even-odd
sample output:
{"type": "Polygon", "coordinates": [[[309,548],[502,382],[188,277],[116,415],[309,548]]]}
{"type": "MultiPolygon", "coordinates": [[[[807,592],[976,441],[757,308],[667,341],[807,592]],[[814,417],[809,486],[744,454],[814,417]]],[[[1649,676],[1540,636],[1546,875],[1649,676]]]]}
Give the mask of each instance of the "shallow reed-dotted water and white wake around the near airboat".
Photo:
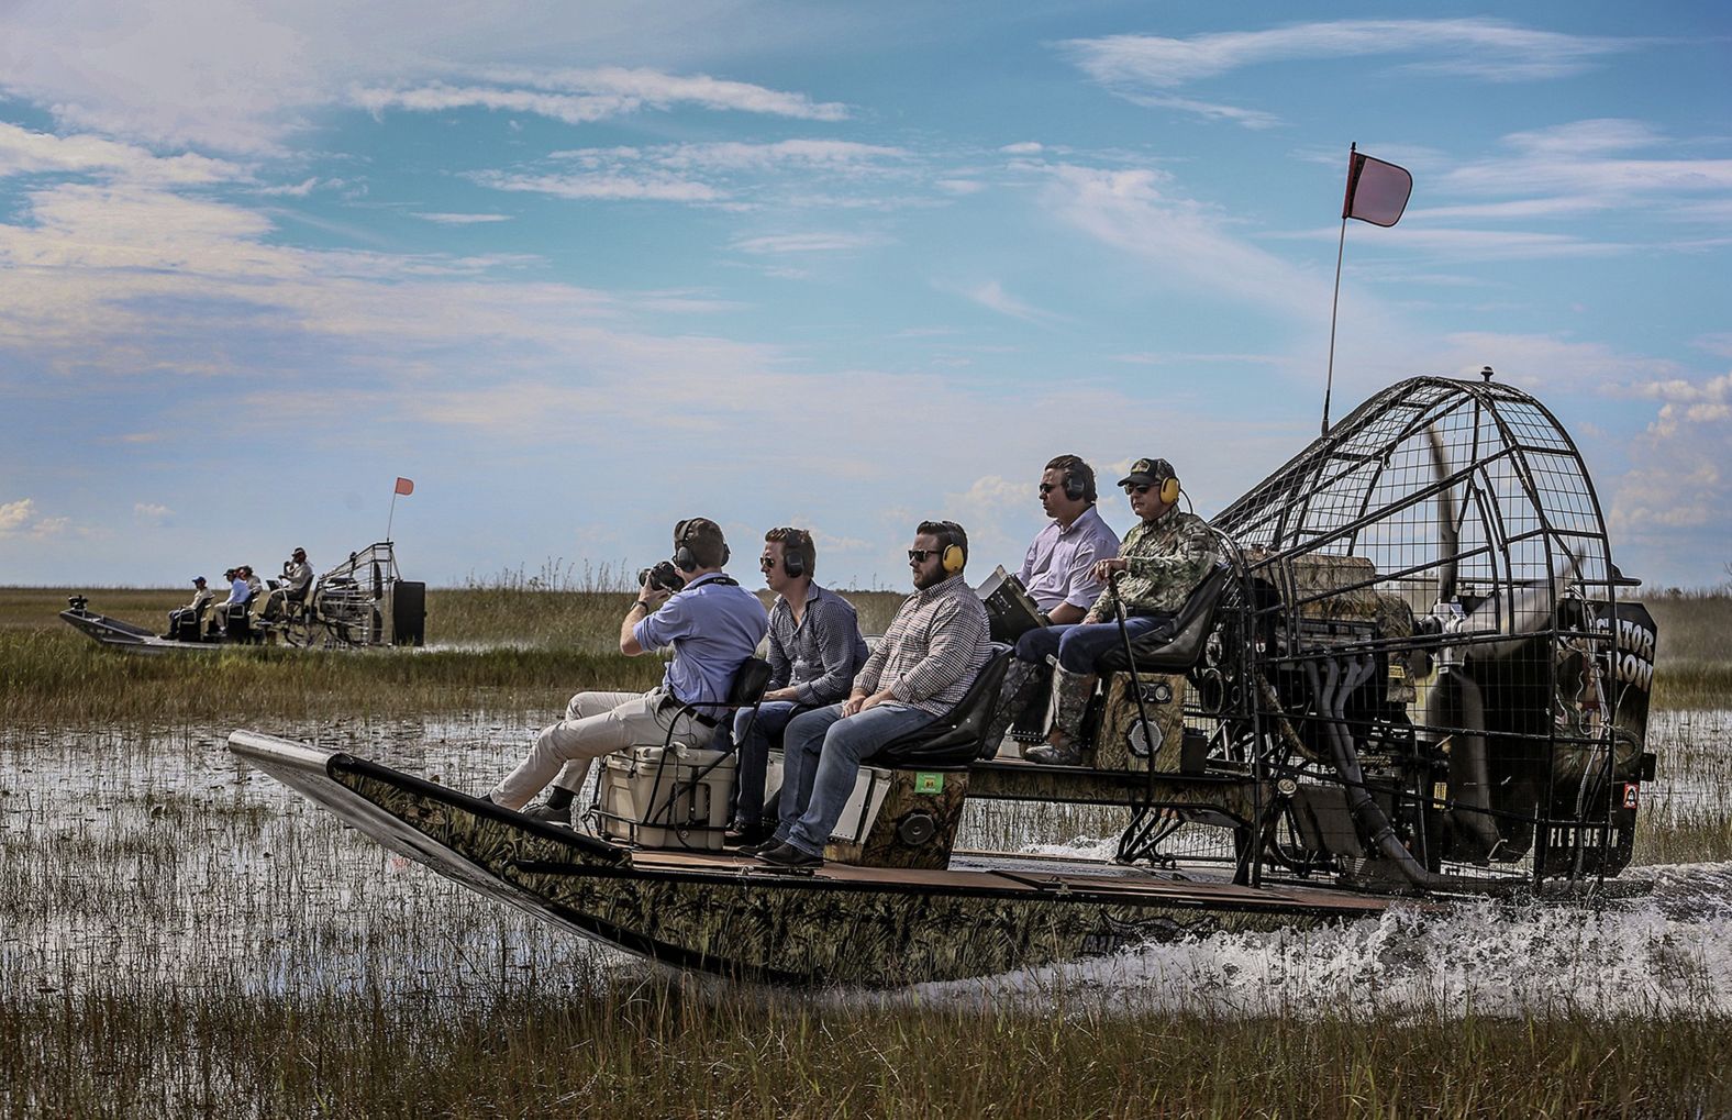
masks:
{"type": "MultiPolygon", "coordinates": [[[[336,720],[267,731],[480,791],[533,720],[336,720]]],[[[395,857],[223,750],[211,731],[0,737],[0,992],[374,990],[438,1002],[580,990],[644,964],[395,857]]],[[[1732,812],[1732,717],[1656,713],[1644,812],[1732,812]]],[[[1119,810],[1122,812],[1122,810],[1119,810]]],[[[965,843],[1110,855],[1114,810],[970,817],[965,843]]],[[[1593,907],[1476,902],[1323,930],[1216,935],[889,997],[1108,1011],[1413,1014],[1732,1013],[1732,864],[1632,869],[1649,897],[1593,907]]]]}

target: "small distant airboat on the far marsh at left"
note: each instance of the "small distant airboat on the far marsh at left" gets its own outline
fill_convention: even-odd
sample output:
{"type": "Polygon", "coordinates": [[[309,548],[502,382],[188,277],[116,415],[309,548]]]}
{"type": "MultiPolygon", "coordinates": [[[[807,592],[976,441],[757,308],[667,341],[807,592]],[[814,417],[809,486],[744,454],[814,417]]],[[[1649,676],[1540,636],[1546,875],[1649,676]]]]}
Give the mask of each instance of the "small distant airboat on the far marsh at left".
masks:
{"type": "MultiPolygon", "coordinates": [[[[282,583],[268,580],[265,594],[282,583]]],[[[291,646],[367,649],[426,642],[426,583],[404,580],[390,540],[350,552],[300,595],[282,594],[267,616],[258,595],[237,604],[175,611],[168,634],[97,615],[87,595],[69,595],[61,620],[95,642],[133,653],[187,653],[222,647],[291,646]],[[220,618],[216,616],[220,615],[220,618]]]]}

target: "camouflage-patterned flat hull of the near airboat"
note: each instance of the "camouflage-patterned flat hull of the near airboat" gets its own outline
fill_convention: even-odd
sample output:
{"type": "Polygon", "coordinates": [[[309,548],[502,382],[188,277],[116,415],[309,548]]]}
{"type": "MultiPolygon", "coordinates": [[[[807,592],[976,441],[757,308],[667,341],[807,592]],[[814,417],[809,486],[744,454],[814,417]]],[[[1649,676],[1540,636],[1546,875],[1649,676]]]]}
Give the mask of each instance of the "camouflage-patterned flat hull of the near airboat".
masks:
{"type": "Polygon", "coordinates": [[[539,824],[350,755],[239,731],[229,748],[381,845],[655,961],[781,983],[906,985],[1105,956],[1152,940],[1379,914],[1389,900],[1159,878],[1027,857],[949,871],[646,852],[539,824]]]}

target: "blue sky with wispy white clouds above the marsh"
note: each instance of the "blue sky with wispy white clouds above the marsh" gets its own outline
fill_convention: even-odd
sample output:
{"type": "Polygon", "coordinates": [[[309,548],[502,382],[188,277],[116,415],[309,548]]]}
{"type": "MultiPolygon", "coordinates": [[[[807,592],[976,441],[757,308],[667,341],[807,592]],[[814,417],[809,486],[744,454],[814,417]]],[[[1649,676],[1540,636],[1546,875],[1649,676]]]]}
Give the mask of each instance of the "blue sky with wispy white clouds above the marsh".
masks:
{"type": "Polygon", "coordinates": [[[322,570],[398,474],[433,583],[691,514],[1013,566],[1060,452],[1212,514],[1316,433],[1349,142],[1415,192],[1335,415],[1493,365],[1625,571],[1727,578],[1716,5],[343,7],[0,10],[0,583],[322,570]]]}

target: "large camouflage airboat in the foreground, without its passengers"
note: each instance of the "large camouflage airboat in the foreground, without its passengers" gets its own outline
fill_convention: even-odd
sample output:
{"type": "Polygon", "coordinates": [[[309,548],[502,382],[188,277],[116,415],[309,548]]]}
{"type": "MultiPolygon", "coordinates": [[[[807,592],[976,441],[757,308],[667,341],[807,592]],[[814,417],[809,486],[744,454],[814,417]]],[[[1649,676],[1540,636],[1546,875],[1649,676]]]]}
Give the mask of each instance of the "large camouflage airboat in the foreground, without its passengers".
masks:
{"type": "Polygon", "coordinates": [[[805,874],[722,846],[719,751],[610,758],[594,827],[573,831],[315,744],[229,744],[471,890],[665,964],[783,983],[956,980],[1391,905],[1612,891],[1654,776],[1656,632],[1538,400],[1490,377],[1403,381],[1212,526],[1226,563],[1103,677],[1084,765],[984,741],[999,647],[947,720],[871,760],[805,874]],[[1110,859],[960,848],[966,808],[1005,800],[1121,807],[1124,829],[1110,859]]]}

